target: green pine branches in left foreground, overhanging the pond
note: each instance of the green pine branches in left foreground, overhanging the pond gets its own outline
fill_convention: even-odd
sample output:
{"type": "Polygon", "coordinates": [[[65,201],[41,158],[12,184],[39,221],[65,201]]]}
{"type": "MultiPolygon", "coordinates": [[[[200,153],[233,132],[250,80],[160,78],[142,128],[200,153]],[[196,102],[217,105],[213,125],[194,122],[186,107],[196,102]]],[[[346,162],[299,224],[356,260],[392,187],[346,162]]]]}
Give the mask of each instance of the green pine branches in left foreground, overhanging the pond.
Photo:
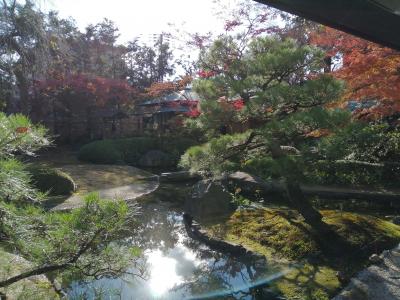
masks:
{"type": "Polygon", "coordinates": [[[40,194],[21,161],[23,155],[49,144],[46,130],[22,115],[3,113],[0,127],[0,242],[31,263],[29,269],[3,277],[0,289],[40,274],[53,278],[123,274],[139,252],[115,240],[134,220],[135,208],[89,195],[82,208],[71,212],[42,209],[40,194]]]}

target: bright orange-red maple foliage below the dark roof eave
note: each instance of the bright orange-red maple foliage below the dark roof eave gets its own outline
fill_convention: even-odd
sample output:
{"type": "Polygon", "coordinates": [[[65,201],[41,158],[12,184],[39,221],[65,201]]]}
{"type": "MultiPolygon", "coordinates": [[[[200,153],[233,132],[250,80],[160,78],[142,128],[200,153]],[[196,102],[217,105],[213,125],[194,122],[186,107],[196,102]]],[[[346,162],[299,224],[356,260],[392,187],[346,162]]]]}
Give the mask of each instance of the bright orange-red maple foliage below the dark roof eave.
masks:
{"type": "Polygon", "coordinates": [[[341,61],[333,74],[347,84],[344,100],[379,101],[358,111],[359,116],[375,119],[400,112],[400,52],[329,27],[314,33],[311,42],[341,61]]]}

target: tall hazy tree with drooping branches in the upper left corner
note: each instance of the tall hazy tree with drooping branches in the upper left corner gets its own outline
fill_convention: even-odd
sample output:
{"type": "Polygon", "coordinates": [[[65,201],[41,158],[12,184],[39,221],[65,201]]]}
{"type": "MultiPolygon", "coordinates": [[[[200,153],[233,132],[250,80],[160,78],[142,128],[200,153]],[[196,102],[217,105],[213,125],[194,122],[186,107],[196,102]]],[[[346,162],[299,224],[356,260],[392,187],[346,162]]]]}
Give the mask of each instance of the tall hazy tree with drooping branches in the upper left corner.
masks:
{"type": "Polygon", "coordinates": [[[24,113],[29,112],[32,80],[48,63],[47,45],[45,16],[35,9],[32,1],[21,4],[5,0],[0,4],[0,76],[2,86],[8,90],[3,96],[11,101],[11,95],[18,89],[24,113]]]}

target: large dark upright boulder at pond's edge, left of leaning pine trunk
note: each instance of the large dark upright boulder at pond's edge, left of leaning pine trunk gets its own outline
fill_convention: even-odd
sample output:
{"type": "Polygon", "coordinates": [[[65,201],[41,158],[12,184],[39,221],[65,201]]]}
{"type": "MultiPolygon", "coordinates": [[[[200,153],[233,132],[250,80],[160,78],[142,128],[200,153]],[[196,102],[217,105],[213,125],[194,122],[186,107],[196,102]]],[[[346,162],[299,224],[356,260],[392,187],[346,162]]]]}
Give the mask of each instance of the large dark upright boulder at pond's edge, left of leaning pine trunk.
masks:
{"type": "Polygon", "coordinates": [[[202,180],[195,184],[185,201],[185,212],[196,220],[226,215],[235,211],[232,195],[220,183],[202,180]]]}

